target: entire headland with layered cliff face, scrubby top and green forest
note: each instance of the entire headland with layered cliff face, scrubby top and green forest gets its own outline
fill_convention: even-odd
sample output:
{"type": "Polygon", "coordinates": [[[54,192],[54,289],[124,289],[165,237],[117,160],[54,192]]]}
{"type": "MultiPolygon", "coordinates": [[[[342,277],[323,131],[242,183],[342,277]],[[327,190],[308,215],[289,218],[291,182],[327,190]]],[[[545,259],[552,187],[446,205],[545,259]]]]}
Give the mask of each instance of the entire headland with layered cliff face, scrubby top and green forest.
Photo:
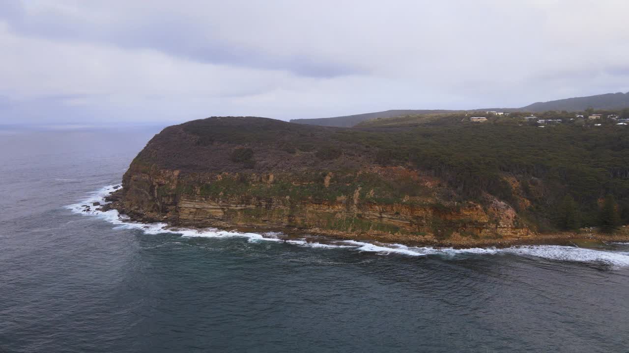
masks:
{"type": "Polygon", "coordinates": [[[210,117],[157,134],[113,206],[192,227],[470,246],[550,241],[629,222],[628,151],[629,129],[612,123],[540,129],[451,113],[332,128],[210,117]]]}

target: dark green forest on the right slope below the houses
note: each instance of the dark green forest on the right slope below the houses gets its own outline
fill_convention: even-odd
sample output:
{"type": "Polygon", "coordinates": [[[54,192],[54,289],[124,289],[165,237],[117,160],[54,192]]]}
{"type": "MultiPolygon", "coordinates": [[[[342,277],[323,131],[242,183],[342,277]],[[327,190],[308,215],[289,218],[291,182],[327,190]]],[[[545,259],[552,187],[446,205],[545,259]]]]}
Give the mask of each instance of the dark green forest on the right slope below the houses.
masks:
{"type": "MultiPolygon", "coordinates": [[[[533,219],[550,219],[569,194],[589,225],[596,224],[601,195],[612,193],[621,209],[629,206],[629,134],[615,126],[537,129],[489,122],[425,125],[387,134],[361,132],[352,138],[371,141],[379,163],[431,171],[462,198],[480,200],[491,193],[533,219]],[[387,134],[395,137],[387,139],[387,134]],[[520,182],[521,190],[506,182],[508,175],[520,182]],[[532,202],[530,207],[518,209],[518,192],[532,202]]],[[[623,215],[623,222],[629,222],[623,215]]]]}

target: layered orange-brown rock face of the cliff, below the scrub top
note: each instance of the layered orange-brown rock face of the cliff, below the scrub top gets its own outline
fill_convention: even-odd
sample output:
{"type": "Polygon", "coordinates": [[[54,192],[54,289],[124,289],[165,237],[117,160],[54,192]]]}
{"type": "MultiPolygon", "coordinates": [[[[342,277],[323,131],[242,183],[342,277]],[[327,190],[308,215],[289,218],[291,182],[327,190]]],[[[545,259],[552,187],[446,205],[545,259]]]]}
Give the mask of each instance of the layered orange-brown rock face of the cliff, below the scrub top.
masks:
{"type": "Polygon", "coordinates": [[[402,166],[320,173],[182,172],[134,161],[115,207],[186,227],[309,232],[383,241],[457,242],[533,236],[487,195],[460,202],[440,180],[402,166]]]}

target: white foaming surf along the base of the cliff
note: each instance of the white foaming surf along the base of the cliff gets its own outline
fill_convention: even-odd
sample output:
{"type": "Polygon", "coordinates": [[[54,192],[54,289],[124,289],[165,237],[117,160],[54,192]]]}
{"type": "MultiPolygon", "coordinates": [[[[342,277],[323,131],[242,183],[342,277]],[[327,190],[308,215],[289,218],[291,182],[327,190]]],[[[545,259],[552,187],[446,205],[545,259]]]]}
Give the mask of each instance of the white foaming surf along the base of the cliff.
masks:
{"type": "MultiPolygon", "coordinates": [[[[143,224],[133,222],[126,215],[120,214],[117,210],[101,211],[97,210],[100,205],[107,204],[104,198],[109,193],[114,192],[121,185],[110,185],[103,187],[96,192],[91,193],[89,197],[78,202],[77,204],[68,205],[67,209],[77,214],[92,215],[100,219],[104,219],[116,228],[121,229],[140,229],[146,234],[172,233],[179,234],[181,237],[207,237],[207,238],[228,238],[228,237],[245,237],[248,242],[282,242],[299,247],[310,247],[314,249],[347,249],[350,251],[358,251],[364,253],[376,253],[381,255],[398,254],[402,256],[442,256],[446,258],[464,257],[469,255],[499,255],[512,254],[516,256],[524,256],[528,258],[541,258],[554,261],[570,261],[579,263],[603,263],[615,267],[629,266],[629,252],[625,251],[605,251],[584,249],[581,247],[571,246],[555,246],[555,245],[538,245],[538,246],[513,246],[505,249],[489,248],[469,248],[469,249],[453,249],[441,247],[412,247],[402,244],[385,244],[381,242],[363,242],[353,240],[335,241],[329,240],[325,242],[315,241],[314,239],[301,238],[290,239],[283,237],[279,232],[264,232],[261,234],[252,232],[236,232],[222,231],[220,229],[186,229],[170,227],[166,223],[143,224]],[[94,206],[96,204],[96,206],[94,206]],[[99,205],[100,204],[100,205],[99,205]]],[[[626,245],[626,243],[620,243],[626,245]]],[[[619,245],[620,245],[619,244],[619,245]]]]}

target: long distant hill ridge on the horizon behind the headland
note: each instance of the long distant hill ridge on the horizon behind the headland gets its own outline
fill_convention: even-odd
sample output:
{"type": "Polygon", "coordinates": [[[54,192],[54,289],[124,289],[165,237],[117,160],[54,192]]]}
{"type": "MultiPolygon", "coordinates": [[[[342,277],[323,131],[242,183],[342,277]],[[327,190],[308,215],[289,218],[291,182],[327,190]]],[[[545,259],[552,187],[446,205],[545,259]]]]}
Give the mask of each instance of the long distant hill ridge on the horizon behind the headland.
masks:
{"type": "MultiPolygon", "coordinates": [[[[560,100],[551,100],[550,102],[537,102],[521,108],[484,108],[469,109],[470,112],[485,111],[523,111],[523,112],[545,112],[545,111],[584,111],[588,107],[594,109],[615,110],[629,108],[629,92],[625,93],[609,93],[591,95],[589,97],[575,97],[560,100]]],[[[291,122],[297,124],[319,125],[319,126],[337,126],[348,128],[355,126],[363,121],[372,119],[399,117],[417,114],[443,114],[462,111],[452,111],[446,109],[421,110],[421,109],[394,109],[384,112],[372,112],[365,114],[356,114],[349,116],[324,117],[320,119],[292,119],[291,122]]]]}

